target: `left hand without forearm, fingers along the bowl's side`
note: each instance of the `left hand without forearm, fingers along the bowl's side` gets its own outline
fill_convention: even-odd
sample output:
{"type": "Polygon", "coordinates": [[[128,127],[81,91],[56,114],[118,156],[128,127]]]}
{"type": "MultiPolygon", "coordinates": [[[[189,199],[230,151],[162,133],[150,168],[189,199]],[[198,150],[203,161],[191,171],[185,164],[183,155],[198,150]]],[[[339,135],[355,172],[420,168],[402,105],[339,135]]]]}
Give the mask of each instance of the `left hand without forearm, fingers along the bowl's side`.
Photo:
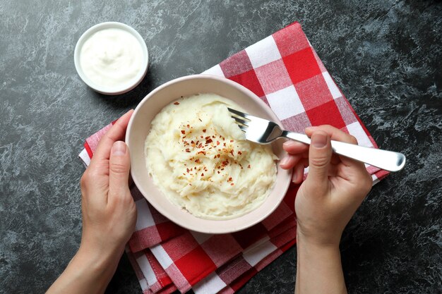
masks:
{"type": "Polygon", "coordinates": [[[135,228],[136,205],[129,191],[129,149],[120,141],[124,139],[132,112],[121,116],[102,137],[80,180],[83,212],[80,248],[118,255],[135,228]]]}

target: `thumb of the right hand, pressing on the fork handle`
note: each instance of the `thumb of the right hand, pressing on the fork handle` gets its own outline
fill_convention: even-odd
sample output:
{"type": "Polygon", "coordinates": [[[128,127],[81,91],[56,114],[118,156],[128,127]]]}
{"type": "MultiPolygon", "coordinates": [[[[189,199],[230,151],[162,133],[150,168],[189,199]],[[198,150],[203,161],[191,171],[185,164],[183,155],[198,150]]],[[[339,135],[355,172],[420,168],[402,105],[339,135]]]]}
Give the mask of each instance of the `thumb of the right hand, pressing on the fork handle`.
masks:
{"type": "Polygon", "coordinates": [[[328,169],[331,155],[330,136],[323,130],[317,130],[311,135],[309,175],[306,179],[316,188],[325,189],[328,186],[328,169]]]}

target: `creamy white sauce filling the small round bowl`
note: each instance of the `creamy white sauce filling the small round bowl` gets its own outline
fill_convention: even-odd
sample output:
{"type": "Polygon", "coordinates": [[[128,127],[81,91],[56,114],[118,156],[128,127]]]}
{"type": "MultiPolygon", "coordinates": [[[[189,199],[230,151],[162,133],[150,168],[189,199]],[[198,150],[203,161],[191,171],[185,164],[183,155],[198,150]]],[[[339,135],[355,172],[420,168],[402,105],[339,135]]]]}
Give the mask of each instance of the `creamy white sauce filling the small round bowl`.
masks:
{"type": "Polygon", "coordinates": [[[119,88],[133,82],[141,71],[143,50],[138,39],[119,28],[91,35],[80,51],[83,73],[96,85],[119,88]]]}

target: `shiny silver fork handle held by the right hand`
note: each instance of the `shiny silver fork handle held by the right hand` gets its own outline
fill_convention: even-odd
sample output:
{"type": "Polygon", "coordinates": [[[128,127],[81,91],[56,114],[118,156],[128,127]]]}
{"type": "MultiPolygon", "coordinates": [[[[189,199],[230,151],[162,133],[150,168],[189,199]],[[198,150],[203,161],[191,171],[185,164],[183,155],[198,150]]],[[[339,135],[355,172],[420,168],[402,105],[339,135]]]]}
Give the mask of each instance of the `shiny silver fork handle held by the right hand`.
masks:
{"type": "MultiPolygon", "coordinates": [[[[307,135],[285,131],[282,136],[310,145],[307,135]]],[[[400,171],[405,166],[405,155],[383,149],[369,148],[331,140],[333,152],[336,154],[365,162],[386,171],[400,171]]]]}

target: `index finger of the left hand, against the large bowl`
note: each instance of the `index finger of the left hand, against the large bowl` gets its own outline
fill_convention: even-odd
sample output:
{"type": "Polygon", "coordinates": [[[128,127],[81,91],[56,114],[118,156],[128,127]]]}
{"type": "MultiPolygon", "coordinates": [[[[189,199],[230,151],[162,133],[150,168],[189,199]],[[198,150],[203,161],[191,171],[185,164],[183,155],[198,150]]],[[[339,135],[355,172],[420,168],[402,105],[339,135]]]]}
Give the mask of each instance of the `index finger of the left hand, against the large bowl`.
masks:
{"type": "Polygon", "coordinates": [[[132,113],[133,109],[121,116],[121,118],[119,118],[114,125],[112,125],[112,128],[110,128],[110,130],[108,130],[107,133],[101,138],[100,143],[98,143],[98,147],[95,150],[94,156],[90,161],[90,166],[92,168],[94,166],[106,166],[103,164],[103,161],[107,161],[107,159],[109,159],[110,150],[114,142],[124,139],[127,124],[129,123],[132,113]]]}

